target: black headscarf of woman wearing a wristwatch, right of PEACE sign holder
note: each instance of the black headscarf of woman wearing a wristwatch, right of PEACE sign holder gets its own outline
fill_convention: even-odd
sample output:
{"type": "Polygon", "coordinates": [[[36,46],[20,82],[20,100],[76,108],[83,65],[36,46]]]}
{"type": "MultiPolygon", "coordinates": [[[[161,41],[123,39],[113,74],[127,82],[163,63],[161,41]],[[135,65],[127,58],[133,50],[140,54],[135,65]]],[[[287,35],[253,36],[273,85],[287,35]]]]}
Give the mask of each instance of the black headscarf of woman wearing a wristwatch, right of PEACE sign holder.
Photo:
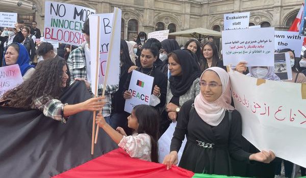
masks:
{"type": "Polygon", "coordinates": [[[200,77],[199,65],[187,50],[174,50],[182,68],[182,75],[170,76],[170,90],[174,97],[184,95],[192,85],[193,81],[200,77]]]}

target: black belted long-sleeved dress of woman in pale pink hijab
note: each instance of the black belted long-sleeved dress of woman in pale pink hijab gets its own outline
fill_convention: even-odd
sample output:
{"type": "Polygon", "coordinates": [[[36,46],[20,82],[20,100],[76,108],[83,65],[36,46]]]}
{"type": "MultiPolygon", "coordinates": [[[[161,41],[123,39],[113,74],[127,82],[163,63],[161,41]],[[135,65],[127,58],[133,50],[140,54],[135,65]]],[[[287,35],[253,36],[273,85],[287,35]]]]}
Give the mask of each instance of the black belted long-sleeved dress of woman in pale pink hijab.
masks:
{"type": "Polygon", "coordinates": [[[194,100],[183,104],[177,125],[171,140],[170,151],[179,151],[185,134],[185,146],[180,167],[195,173],[232,175],[231,158],[249,162],[250,154],[241,149],[241,116],[237,110],[232,112],[228,121],[228,112],[218,126],[204,122],[192,107],[194,100]],[[212,143],[212,149],[198,145],[201,141],[212,143]]]}

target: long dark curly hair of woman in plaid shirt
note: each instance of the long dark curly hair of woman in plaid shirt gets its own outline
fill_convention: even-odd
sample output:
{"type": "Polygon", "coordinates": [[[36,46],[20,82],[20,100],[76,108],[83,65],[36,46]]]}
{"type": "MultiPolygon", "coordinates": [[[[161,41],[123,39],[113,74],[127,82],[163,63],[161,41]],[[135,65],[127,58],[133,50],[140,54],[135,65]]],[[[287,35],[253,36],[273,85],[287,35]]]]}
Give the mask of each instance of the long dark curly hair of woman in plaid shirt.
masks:
{"type": "MultiPolygon", "coordinates": [[[[70,73],[66,61],[63,58],[53,58],[40,62],[31,78],[21,83],[19,86],[6,92],[4,100],[9,100],[8,106],[23,109],[31,109],[35,105],[35,100],[41,96],[59,98],[63,90],[70,83],[70,73]],[[63,67],[66,65],[68,80],[66,87],[62,87],[63,67]]],[[[43,102],[47,102],[46,99],[43,102]]]]}

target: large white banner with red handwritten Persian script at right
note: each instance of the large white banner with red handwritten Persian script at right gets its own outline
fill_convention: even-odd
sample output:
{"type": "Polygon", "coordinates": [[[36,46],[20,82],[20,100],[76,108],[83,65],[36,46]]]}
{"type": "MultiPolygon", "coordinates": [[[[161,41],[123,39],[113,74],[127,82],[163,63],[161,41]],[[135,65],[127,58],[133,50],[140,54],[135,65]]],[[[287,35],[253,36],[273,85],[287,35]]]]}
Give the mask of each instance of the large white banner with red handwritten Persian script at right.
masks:
{"type": "Polygon", "coordinates": [[[306,166],[306,84],[263,80],[229,72],[242,135],[259,150],[306,166]]]}

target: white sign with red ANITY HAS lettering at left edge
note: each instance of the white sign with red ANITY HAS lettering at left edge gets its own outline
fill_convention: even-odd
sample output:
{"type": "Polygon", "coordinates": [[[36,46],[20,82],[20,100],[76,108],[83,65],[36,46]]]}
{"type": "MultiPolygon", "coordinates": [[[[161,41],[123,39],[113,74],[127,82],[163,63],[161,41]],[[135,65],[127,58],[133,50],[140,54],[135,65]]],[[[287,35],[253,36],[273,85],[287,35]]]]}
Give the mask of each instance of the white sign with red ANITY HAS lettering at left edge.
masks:
{"type": "Polygon", "coordinates": [[[23,82],[19,65],[0,67],[0,98],[8,90],[23,82]]]}

